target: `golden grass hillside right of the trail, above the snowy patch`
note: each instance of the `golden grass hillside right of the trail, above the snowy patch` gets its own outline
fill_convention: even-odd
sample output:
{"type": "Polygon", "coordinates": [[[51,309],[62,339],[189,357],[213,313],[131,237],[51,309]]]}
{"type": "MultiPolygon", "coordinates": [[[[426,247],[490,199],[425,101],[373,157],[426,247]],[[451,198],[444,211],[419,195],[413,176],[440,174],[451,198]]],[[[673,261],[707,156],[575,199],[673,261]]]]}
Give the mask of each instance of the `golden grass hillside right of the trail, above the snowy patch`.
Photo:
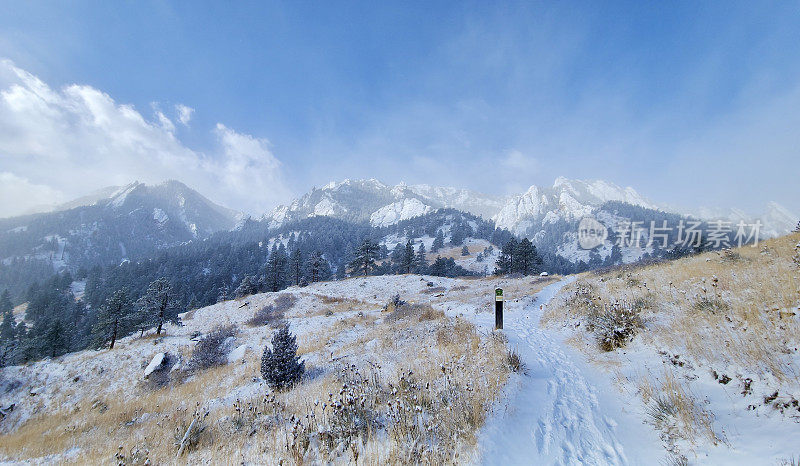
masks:
{"type": "Polygon", "coordinates": [[[640,303],[649,321],[642,334],[647,341],[686,348],[698,361],[797,381],[800,368],[785,353],[800,332],[800,319],[792,315],[800,303],[800,270],[792,261],[798,240],[793,234],[729,253],[583,274],[562,290],[543,321],[585,318],[592,305],[578,302],[575,293],[588,288],[583,294],[597,306],[615,299],[640,303]]]}

